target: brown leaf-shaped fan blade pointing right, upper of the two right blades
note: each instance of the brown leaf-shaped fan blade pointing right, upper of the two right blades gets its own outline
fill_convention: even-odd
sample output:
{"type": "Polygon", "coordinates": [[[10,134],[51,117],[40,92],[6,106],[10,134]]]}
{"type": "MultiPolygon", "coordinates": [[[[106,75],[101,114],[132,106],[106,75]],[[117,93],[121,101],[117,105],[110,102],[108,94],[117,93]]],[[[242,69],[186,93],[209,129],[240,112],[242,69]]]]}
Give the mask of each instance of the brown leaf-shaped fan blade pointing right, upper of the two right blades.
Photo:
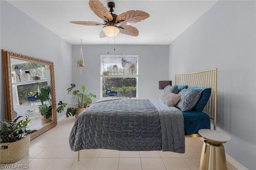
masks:
{"type": "Polygon", "coordinates": [[[149,17],[149,14],[143,11],[127,11],[116,17],[116,22],[122,25],[129,25],[129,23],[134,24],[136,22],[140,22],[149,17]]]}

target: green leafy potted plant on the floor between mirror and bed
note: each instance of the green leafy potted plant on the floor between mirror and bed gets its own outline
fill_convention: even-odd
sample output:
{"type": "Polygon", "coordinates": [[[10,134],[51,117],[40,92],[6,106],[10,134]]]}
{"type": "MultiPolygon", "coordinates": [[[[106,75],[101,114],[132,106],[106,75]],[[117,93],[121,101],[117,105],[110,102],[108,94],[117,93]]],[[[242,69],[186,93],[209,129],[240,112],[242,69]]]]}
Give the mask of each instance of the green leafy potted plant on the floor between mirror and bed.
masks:
{"type": "Polygon", "coordinates": [[[90,90],[86,91],[85,85],[82,85],[80,90],[76,89],[76,85],[74,83],[72,83],[70,85],[71,85],[71,87],[68,88],[67,91],[68,91],[68,94],[74,95],[74,99],[76,99],[76,105],[70,105],[70,104],[63,103],[62,101],[60,101],[58,103],[58,108],[56,109],[56,111],[58,113],[61,113],[67,105],[70,105],[70,107],[68,107],[68,109],[67,109],[66,117],[69,117],[71,115],[78,117],[78,115],[84,109],[89,107],[90,104],[92,103],[91,97],[96,98],[96,95],[90,90]]]}

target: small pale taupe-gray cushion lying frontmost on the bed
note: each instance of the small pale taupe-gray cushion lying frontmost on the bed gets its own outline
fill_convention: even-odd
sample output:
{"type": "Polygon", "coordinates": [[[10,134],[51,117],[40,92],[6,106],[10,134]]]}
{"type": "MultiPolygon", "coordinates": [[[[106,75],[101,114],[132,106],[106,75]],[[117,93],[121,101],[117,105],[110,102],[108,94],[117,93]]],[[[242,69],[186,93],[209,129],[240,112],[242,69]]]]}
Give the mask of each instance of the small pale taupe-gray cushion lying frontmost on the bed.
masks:
{"type": "Polygon", "coordinates": [[[175,106],[180,101],[180,95],[166,91],[161,95],[159,100],[167,106],[175,106]]]}

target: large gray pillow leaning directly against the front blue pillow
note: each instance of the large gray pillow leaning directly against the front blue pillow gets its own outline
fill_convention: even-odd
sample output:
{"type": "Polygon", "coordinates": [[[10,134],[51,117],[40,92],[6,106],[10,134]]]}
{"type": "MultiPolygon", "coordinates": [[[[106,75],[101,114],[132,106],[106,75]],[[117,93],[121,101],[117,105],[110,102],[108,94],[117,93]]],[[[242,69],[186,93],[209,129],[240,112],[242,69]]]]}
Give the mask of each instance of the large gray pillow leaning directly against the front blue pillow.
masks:
{"type": "Polygon", "coordinates": [[[178,95],[180,95],[180,101],[177,103],[176,107],[182,112],[192,110],[200,96],[202,94],[202,89],[182,89],[178,95]]]}

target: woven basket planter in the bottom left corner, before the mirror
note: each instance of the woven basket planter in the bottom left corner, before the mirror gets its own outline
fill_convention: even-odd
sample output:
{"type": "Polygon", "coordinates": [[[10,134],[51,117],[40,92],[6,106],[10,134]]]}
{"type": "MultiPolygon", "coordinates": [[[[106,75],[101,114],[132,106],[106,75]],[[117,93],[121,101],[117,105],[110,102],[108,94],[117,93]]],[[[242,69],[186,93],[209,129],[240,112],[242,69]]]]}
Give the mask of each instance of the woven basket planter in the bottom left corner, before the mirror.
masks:
{"type": "Polygon", "coordinates": [[[1,143],[0,156],[1,164],[12,163],[21,160],[29,152],[30,136],[26,136],[21,140],[12,143],[1,143]],[[2,149],[4,147],[6,149],[2,149]]]}

